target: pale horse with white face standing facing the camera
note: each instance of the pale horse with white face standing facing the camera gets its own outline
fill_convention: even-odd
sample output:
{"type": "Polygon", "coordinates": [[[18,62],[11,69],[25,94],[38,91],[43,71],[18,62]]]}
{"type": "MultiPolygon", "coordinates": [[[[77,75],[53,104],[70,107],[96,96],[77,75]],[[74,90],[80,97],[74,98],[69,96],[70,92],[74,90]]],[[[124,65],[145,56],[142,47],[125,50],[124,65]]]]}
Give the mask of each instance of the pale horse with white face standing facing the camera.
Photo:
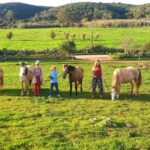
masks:
{"type": "Polygon", "coordinates": [[[29,95],[29,86],[34,78],[34,67],[26,65],[25,62],[20,62],[19,79],[21,81],[21,95],[29,95]]]}

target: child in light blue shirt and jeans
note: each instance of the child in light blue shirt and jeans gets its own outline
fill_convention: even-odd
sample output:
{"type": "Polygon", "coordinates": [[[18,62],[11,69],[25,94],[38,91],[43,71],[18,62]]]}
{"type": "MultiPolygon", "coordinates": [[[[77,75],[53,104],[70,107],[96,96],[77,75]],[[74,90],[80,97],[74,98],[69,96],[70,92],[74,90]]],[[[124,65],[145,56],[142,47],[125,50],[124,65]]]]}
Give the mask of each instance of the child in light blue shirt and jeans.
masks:
{"type": "Polygon", "coordinates": [[[57,68],[55,66],[51,67],[51,72],[50,72],[50,93],[48,98],[52,97],[52,92],[53,92],[53,87],[55,86],[56,89],[56,95],[59,97],[59,89],[58,89],[58,72],[57,72],[57,68]]]}

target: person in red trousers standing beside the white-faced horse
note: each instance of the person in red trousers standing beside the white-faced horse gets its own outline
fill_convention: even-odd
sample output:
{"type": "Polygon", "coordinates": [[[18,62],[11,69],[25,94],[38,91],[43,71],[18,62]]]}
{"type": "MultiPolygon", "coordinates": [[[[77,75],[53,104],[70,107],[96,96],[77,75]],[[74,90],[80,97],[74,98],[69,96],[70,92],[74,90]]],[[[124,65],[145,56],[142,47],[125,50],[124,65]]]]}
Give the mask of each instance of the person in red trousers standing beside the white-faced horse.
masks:
{"type": "Polygon", "coordinates": [[[35,76],[35,81],[34,81],[34,95],[35,96],[40,96],[40,91],[41,91],[41,84],[42,84],[42,69],[40,67],[40,61],[37,60],[35,62],[35,68],[34,68],[34,76],[35,76]]]}

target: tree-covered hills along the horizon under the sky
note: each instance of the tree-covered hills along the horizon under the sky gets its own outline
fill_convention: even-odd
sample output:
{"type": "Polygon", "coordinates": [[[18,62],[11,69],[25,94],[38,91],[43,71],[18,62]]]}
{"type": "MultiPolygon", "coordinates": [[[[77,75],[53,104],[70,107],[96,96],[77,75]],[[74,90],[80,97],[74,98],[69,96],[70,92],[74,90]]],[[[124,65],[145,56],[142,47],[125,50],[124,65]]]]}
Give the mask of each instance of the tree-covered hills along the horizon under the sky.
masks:
{"type": "Polygon", "coordinates": [[[0,5],[0,25],[57,24],[70,26],[104,19],[148,19],[150,4],[129,5],[123,3],[72,3],[60,7],[41,7],[23,3],[0,5]],[[70,24],[71,23],[71,24],[70,24]]]}

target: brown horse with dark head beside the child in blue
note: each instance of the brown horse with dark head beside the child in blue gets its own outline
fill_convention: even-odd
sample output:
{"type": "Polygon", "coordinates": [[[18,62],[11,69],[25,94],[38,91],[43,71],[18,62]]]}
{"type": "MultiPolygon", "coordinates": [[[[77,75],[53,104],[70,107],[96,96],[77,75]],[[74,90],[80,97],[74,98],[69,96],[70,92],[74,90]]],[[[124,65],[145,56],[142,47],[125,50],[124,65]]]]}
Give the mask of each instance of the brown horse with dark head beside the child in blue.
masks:
{"type": "Polygon", "coordinates": [[[83,68],[65,64],[63,65],[63,78],[64,79],[66,78],[67,74],[69,74],[70,95],[72,95],[72,82],[75,83],[76,95],[77,95],[78,85],[80,85],[80,92],[82,92],[83,68]]]}

